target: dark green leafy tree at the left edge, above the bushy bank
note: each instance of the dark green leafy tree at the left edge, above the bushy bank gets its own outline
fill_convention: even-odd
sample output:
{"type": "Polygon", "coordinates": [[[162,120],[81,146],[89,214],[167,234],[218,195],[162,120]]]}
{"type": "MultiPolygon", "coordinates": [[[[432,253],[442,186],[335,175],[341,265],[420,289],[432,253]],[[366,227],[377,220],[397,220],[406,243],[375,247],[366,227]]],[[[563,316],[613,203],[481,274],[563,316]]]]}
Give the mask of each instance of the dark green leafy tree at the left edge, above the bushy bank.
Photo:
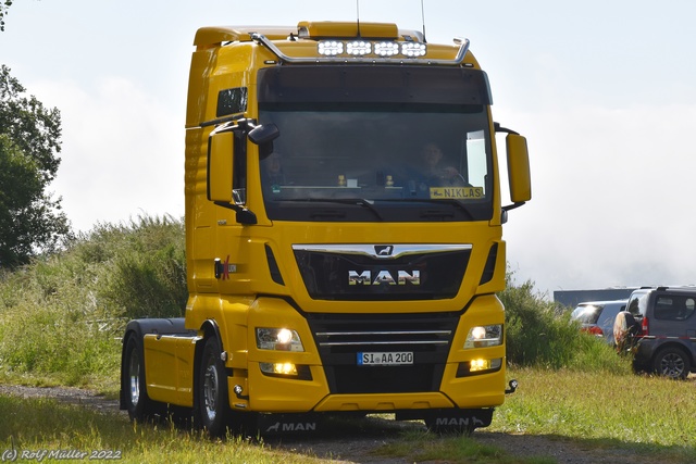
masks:
{"type": "Polygon", "coordinates": [[[61,150],[61,117],[0,67],[0,266],[24,264],[70,234],[61,198],[47,192],[61,150]]]}

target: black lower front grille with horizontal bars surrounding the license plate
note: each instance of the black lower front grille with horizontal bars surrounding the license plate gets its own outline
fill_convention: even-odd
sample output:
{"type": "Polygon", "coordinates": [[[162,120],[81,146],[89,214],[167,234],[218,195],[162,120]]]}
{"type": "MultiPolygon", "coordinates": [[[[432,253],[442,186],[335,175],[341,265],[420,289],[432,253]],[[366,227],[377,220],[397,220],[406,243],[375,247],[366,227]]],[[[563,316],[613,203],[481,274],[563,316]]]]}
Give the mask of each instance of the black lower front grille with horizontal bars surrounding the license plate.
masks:
{"type": "Polygon", "coordinates": [[[457,313],[333,315],[308,322],[332,393],[438,391],[457,313]],[[413,364],[358,365],[358,353],[413,353],[413,364]]]}

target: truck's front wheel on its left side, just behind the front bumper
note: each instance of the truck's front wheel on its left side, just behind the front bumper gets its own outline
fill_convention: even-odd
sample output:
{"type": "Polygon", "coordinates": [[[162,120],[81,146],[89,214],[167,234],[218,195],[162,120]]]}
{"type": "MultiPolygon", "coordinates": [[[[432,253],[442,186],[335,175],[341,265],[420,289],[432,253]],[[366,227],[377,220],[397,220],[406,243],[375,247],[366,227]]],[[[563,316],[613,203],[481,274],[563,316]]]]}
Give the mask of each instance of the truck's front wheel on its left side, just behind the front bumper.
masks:
{"type": "Polygon", "coordinates": [[[221,351],[217,339],[208,338],[198,373],[200,425],[211,437],[224,436],[231,417],[227,375],[220,359],[221,351]]]}

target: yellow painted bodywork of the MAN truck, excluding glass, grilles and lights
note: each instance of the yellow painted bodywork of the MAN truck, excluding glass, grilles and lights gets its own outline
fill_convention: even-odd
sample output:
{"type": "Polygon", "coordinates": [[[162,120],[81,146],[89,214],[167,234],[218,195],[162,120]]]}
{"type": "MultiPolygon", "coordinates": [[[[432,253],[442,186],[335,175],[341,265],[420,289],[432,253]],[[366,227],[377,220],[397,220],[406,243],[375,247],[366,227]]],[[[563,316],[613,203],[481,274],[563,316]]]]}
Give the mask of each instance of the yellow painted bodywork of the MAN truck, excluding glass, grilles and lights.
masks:
{"type": "MultiPolygon", "coordinates": [[[[264,213],[258,173],[258,147],[249,143],[249,185],[247,204],[257,213],[258,224],[241,225],[235,212],[215,206],[207,199],[208,137],[213,126],[201,123],[216,118],[219,90],[247,87],[248,105],[245,117],[256,118],[257,71],[274,66],[277,58],[250,39],[261,33],[289,57],[315,57],[314,40],[290,41],[286,38],[298,29],[306,29],[312,38],[353,37],[355,23],[310,23],[295,27],[206,27],[195,38],[186,112],[186,250],[188,289],[186,327],[199,331],[207,321],[219,327],[223,351],[227,353],[229,404],[236,410],[262,412],[303,411],[394,411],[430,407],[490,407],[504,401],[505,344],[493,348],[463,350],[464,338],[475,325],[504,324],[504,308],[495,297],[505,286],[506,247],[501,239],[500,189],[494,186],[494,217],[480,223],[296,223],[273,224],[264,213]],[[229,46],[221,46],[224,42],[229,46]],[[467,274],[458,294],[451,300],[428,301],[319,301],[308,294],[295,265],[294,243],[465,243],[473,246],[467,274]],[[497,243],[495,273],[480,285],[490,247],[497,243]],[[269,247],[279,266],[285,285],[271,280],[265,249],[269,247]],[[220,259],[225,268],[233,269],[228,279],[214,276],[213,260],[220,259]],[[258,297],[259,294],[275,297],[258,297]],[[459,311],[468,305],[453,339],[452,350],[440,392],[399,394],[328,394],[307,321],[282,297],[288,297],[304,312],[369,314],[374,312],[421,313],[423,311],[459,311]],[[304,346],[303,352],[259,350],[256,327],[286,327],[297,330],[304,346]],[[502,359],[502,367],[495,373],[456,378],[460,362],[477,358],[502,359]],[[294,380],[264,375],[259,363],[291,362],[307,365],[312,380],[294,380]],[[243,387],[246,398],[233,393],[243,387]]],[[[361,34],[370,37],[403,40],[413,32],[399,30],[394,24],[361,24],[361,34]]],[[[458,45],[427,45],[427,57],[451,60],[458,45]]],[[[401,59],[408,62],[407,59],[401,59]]],[[[478,63],[469,52],[469,66],[478,63]]],[[[489,110],[488,110],[489,111],[489,110]]],[[[493,121],[493,120],[490,120],[493,121]]],[[[493,123],[490,123],[493,133],[493,123]]],[[[495,140],[493,140],[495,150],[495,140]]],[[[494,156],[494,173],[498,165],[494,156]]],[[[477,195],[475,189],[460,188],[453,195],[477,195]]],[[[219,192],[214,192],[220,196],[219,192]]],[[[478,192],[480,195],[480,192],[478,192]]],[[[196,338],[146,336],[146,378],[148,394],[157,401],[190,406],[192,398],[192,366],[196,338]]]]}

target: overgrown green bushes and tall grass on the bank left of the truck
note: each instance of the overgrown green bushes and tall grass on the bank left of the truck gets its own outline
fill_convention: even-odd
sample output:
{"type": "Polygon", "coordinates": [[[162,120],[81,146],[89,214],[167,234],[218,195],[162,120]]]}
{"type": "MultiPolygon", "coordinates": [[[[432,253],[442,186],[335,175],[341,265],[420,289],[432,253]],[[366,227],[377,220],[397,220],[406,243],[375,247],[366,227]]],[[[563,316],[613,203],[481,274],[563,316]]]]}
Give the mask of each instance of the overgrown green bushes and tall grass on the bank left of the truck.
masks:
{"type": "Polygon", "coordinates": [[[183,221],[98,225],[0,275],[0,371],[116,383],[126,322],[181,316],[187,294],[183,221]]]}

